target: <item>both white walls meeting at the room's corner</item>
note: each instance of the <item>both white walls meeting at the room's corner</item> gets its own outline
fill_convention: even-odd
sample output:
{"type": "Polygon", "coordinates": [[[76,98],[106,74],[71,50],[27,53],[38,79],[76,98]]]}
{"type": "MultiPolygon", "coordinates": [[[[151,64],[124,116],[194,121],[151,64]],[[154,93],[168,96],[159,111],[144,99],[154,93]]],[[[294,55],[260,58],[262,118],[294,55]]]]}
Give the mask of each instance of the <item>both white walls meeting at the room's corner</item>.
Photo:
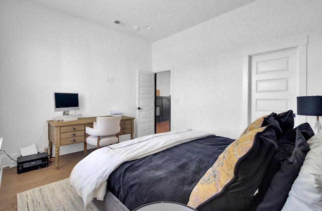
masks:
{"type": "MultiPolygon", "coordinates": [[[[258,0],[163,40],[147,43],[26,1],[0,1],[2,149],[47,146],[54,91],[80,94],[84,117],[136,115],[136,69],[174,66],[174,130],[237,138],[243,49],[308,34],[307,94],[322,95],[322,1],[258,0]],[[151,50],[151,48],[153,50],[151,50]],[[107,83],[113,77],[114,83],[107,83]]],[[[308,118],[311,126],[314,117],[308,118]]],[[[61,154],[83,144],[61,147],[61,154]]],[[[1,155],[0,155],[1,156],[1,155]]]]}

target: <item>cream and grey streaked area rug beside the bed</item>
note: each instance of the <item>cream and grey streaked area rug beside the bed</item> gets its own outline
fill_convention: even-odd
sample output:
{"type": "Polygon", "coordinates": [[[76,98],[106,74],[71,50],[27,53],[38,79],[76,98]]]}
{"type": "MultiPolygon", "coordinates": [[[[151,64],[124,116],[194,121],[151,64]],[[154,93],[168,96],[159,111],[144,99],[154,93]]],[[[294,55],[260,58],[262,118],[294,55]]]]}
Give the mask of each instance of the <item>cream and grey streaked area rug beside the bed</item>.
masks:
{"type": "MultiPolygon", "coordinates": [[[[36,187],[17,194],[17,209],[24,210],[84,210],[84,203],[69,178],[36,187]]],[[[86,211],[98,210],[91,202],[86,211]]]]}

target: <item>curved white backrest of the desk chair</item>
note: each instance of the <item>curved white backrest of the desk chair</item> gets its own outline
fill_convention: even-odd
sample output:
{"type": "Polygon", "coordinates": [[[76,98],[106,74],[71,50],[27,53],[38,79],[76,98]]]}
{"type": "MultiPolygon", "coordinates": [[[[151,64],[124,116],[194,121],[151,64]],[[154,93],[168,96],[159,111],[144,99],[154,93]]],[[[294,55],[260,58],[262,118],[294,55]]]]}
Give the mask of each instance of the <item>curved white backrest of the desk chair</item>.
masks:
{"type": "Polygon", "coordinates": [[[97,117],[98,136],[111,136],[118,134],[121,130],[120,122],[122,116],[97,117]]]}

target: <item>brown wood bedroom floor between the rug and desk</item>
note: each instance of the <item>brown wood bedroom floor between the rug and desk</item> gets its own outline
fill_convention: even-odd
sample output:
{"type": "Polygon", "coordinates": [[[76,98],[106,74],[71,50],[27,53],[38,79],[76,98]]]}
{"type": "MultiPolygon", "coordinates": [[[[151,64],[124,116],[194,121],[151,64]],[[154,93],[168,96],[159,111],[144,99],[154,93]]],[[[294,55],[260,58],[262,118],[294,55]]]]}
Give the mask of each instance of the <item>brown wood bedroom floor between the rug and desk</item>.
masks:
{"type": "MultiPolygon", "coordinates": [[[[89,154],[92,150],[88,150],[89,154]]],[[[3,170],[0,187],[0,210],[17,210],[16,194],[44,184],[68,178],[76,163],[84,158],[84,152],[76,152],[59,156],[59,169],[55,162],[46,168],[17,174],[17,168],[3,170]]]]}

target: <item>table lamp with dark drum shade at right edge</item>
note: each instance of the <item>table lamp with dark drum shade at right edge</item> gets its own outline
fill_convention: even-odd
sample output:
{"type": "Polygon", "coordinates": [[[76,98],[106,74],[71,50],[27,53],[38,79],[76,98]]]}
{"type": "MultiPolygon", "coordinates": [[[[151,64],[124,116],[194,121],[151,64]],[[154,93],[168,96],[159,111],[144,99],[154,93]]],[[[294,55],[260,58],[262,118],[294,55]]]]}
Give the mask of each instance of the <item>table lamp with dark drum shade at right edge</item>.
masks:
{"type": "Polygon", "coordinates": [[[322,116],[322,96],[300,96],[297,98],[297,114],[305,116],[316,116],[314,132],[322,131],[318,116],[322,116]]]}

